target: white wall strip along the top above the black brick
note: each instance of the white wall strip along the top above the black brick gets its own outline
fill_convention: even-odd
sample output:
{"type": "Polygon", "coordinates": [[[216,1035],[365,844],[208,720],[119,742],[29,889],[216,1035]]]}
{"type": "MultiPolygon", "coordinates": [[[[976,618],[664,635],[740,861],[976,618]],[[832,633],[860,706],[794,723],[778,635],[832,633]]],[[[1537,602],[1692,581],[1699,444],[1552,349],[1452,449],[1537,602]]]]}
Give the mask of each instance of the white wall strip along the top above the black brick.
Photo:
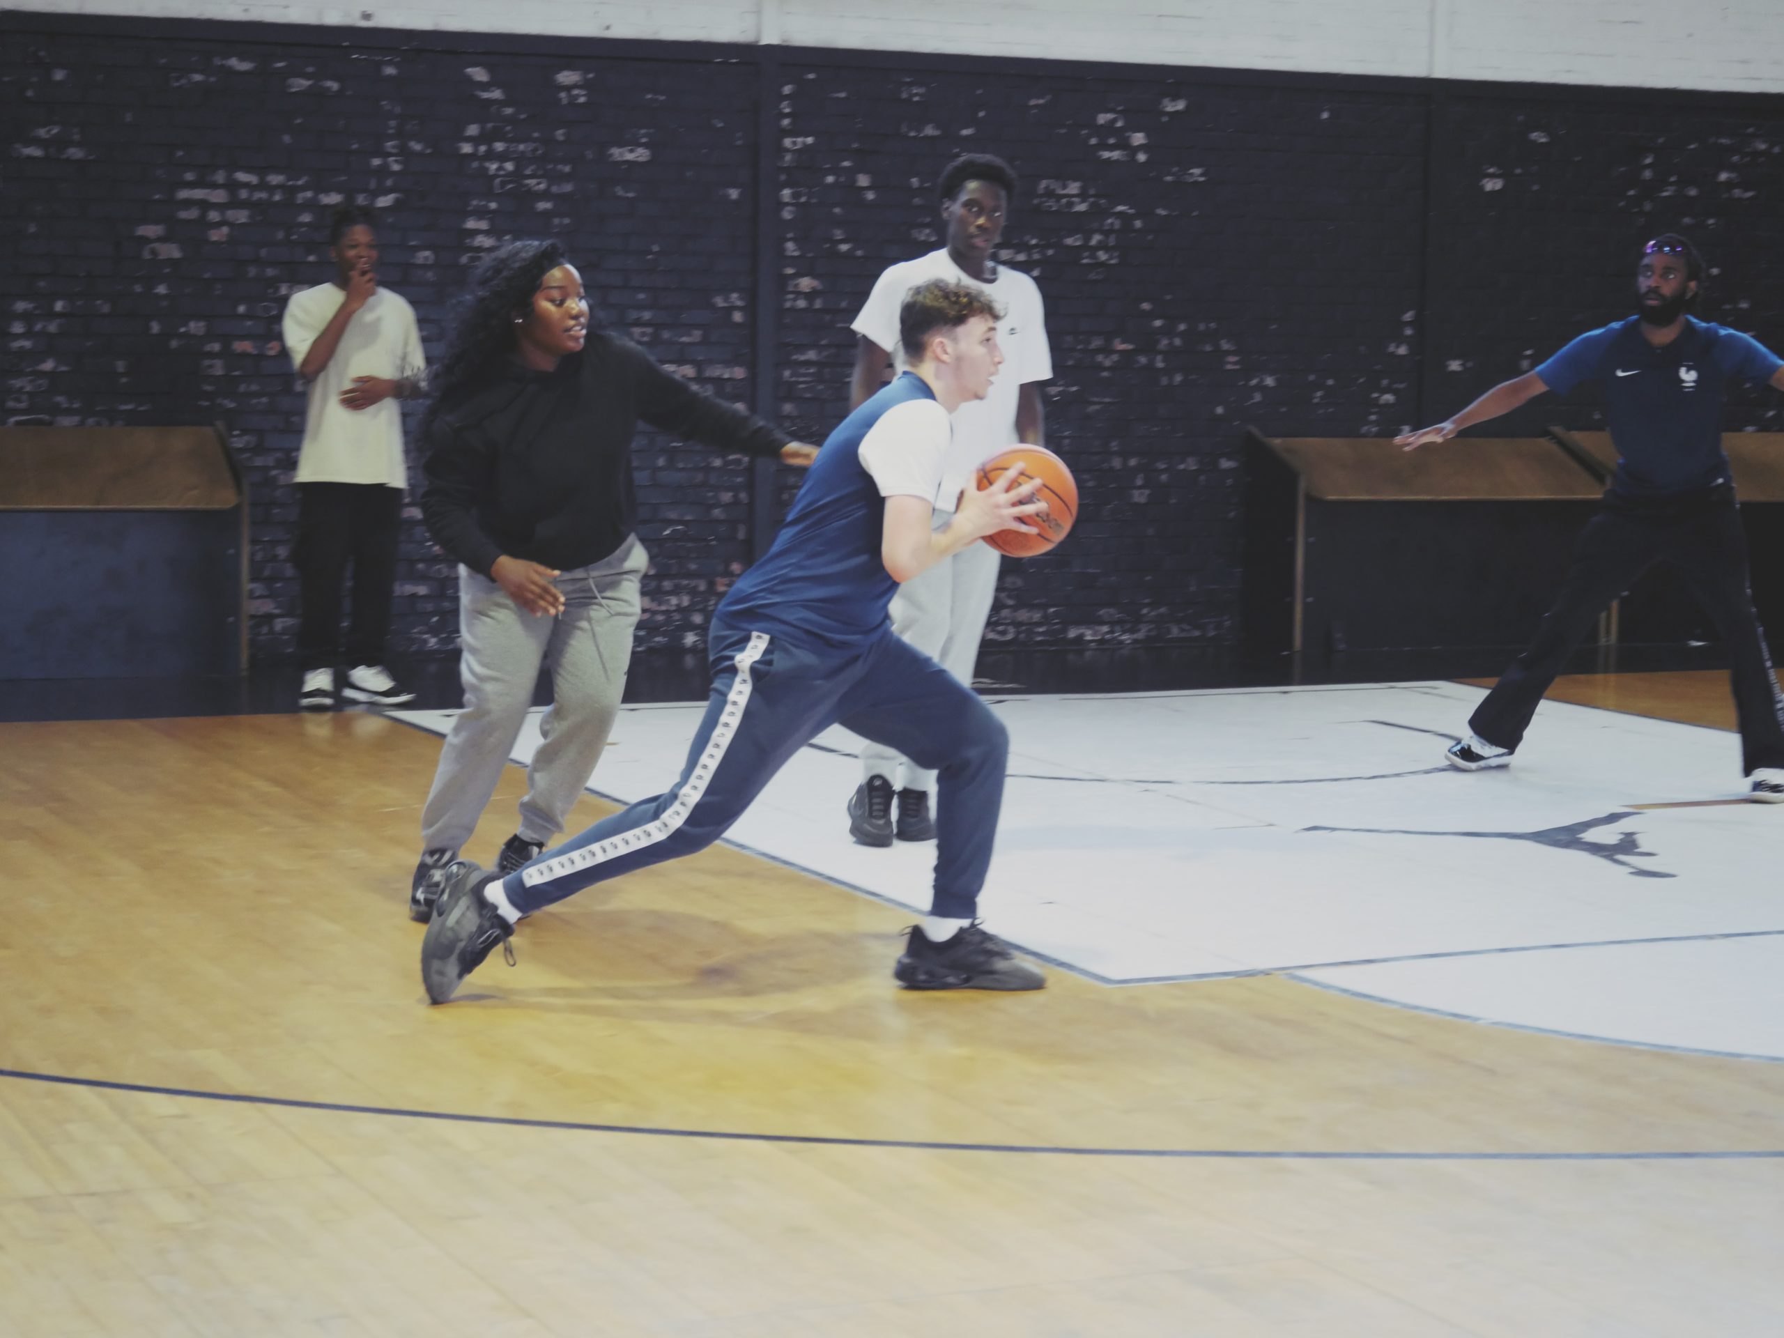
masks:
{"type": "MultiPolygon", "coordinates": [[[[78,14],[1784,91],[1780,0],[27,0],[78,14]]],[[[102,21],[102,20],[100,20],[102,21]]]]}

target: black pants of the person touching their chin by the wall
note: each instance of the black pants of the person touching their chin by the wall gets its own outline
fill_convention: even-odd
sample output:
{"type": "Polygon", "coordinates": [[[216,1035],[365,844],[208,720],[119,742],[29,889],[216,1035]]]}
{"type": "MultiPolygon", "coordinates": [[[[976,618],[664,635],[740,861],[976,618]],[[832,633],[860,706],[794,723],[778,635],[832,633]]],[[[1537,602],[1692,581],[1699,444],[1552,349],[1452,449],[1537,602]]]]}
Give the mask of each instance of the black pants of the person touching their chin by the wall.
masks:
{"type": "Polygon", "coordinates": [[[341,594],[353,566],[353,624],[346,664],[384,664],[391,632],[396,541],[403,491],[384,483],[298,483],[298,546],[291,555],[301,589],[298,660],[334,669],[341,660],[341,594]]]}

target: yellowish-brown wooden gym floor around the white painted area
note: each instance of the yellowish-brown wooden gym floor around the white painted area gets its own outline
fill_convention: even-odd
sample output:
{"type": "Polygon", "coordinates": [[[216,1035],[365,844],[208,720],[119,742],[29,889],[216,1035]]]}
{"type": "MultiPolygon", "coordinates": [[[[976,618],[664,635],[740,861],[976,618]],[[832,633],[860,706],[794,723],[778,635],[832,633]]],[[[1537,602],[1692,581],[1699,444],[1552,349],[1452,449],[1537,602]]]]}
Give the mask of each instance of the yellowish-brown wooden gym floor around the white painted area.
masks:
{"type": "MultiPolygon", "coordinates": [[[[1556,696],[1730,724],[1722,674],[1556,696]]],[[[1784,1333],[1784,1065],[1270,976],[903,994],[908,915],[724,847],[430,1010],[437,749],[0,726],[0,1334],[1784,1333]]]]}

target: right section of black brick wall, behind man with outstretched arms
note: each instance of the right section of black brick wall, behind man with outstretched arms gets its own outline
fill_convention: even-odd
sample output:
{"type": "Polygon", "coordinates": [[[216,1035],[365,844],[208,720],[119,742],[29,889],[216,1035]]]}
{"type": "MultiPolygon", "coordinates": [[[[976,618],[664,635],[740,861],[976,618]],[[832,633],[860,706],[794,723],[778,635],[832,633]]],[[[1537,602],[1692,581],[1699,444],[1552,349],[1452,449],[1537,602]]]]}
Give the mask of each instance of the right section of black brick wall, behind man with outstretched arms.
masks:
{"type": "MultiPolygon", "coordinates": [[[[1634,310],[1641,243],[1684,232],[1709,264],[1698,316],[1784,350],[1784,98],[1757,109],[1606,96],[1434,109],[1447,171],[1431,198],[1431,344],[1438,414],[1527,371],[1582,330],[1634,310]]],[[[1604,425],[1598,394],[1545,396],[1502,419],[1604,425]]],[[[1736,387],[1727,428],[1777,432],[1777,392],[1736,387]]]]}

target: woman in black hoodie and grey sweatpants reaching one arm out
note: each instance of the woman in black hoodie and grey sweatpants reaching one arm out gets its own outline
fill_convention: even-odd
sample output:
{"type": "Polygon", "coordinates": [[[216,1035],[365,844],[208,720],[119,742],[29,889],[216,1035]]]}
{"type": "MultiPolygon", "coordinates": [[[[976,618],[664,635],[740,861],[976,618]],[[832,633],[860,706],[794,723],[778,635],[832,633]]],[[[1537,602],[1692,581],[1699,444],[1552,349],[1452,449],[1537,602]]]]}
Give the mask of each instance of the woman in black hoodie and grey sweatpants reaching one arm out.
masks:
{"type": "Polygon", "coordinates": [[[512,872],[564,830],[626,683],[639,582],[632,437],[639,421],[715,450],[810,464],[815,448],[701,394],[637,344],[589,325],[555,241],[517,241],[473,275],[421,425],[421,514],[457,558],[464,712],[421,812],[409,913],[426,921],[446,865],[496,790],[541,664],[553,703],[526,771],[512,872]]]}

